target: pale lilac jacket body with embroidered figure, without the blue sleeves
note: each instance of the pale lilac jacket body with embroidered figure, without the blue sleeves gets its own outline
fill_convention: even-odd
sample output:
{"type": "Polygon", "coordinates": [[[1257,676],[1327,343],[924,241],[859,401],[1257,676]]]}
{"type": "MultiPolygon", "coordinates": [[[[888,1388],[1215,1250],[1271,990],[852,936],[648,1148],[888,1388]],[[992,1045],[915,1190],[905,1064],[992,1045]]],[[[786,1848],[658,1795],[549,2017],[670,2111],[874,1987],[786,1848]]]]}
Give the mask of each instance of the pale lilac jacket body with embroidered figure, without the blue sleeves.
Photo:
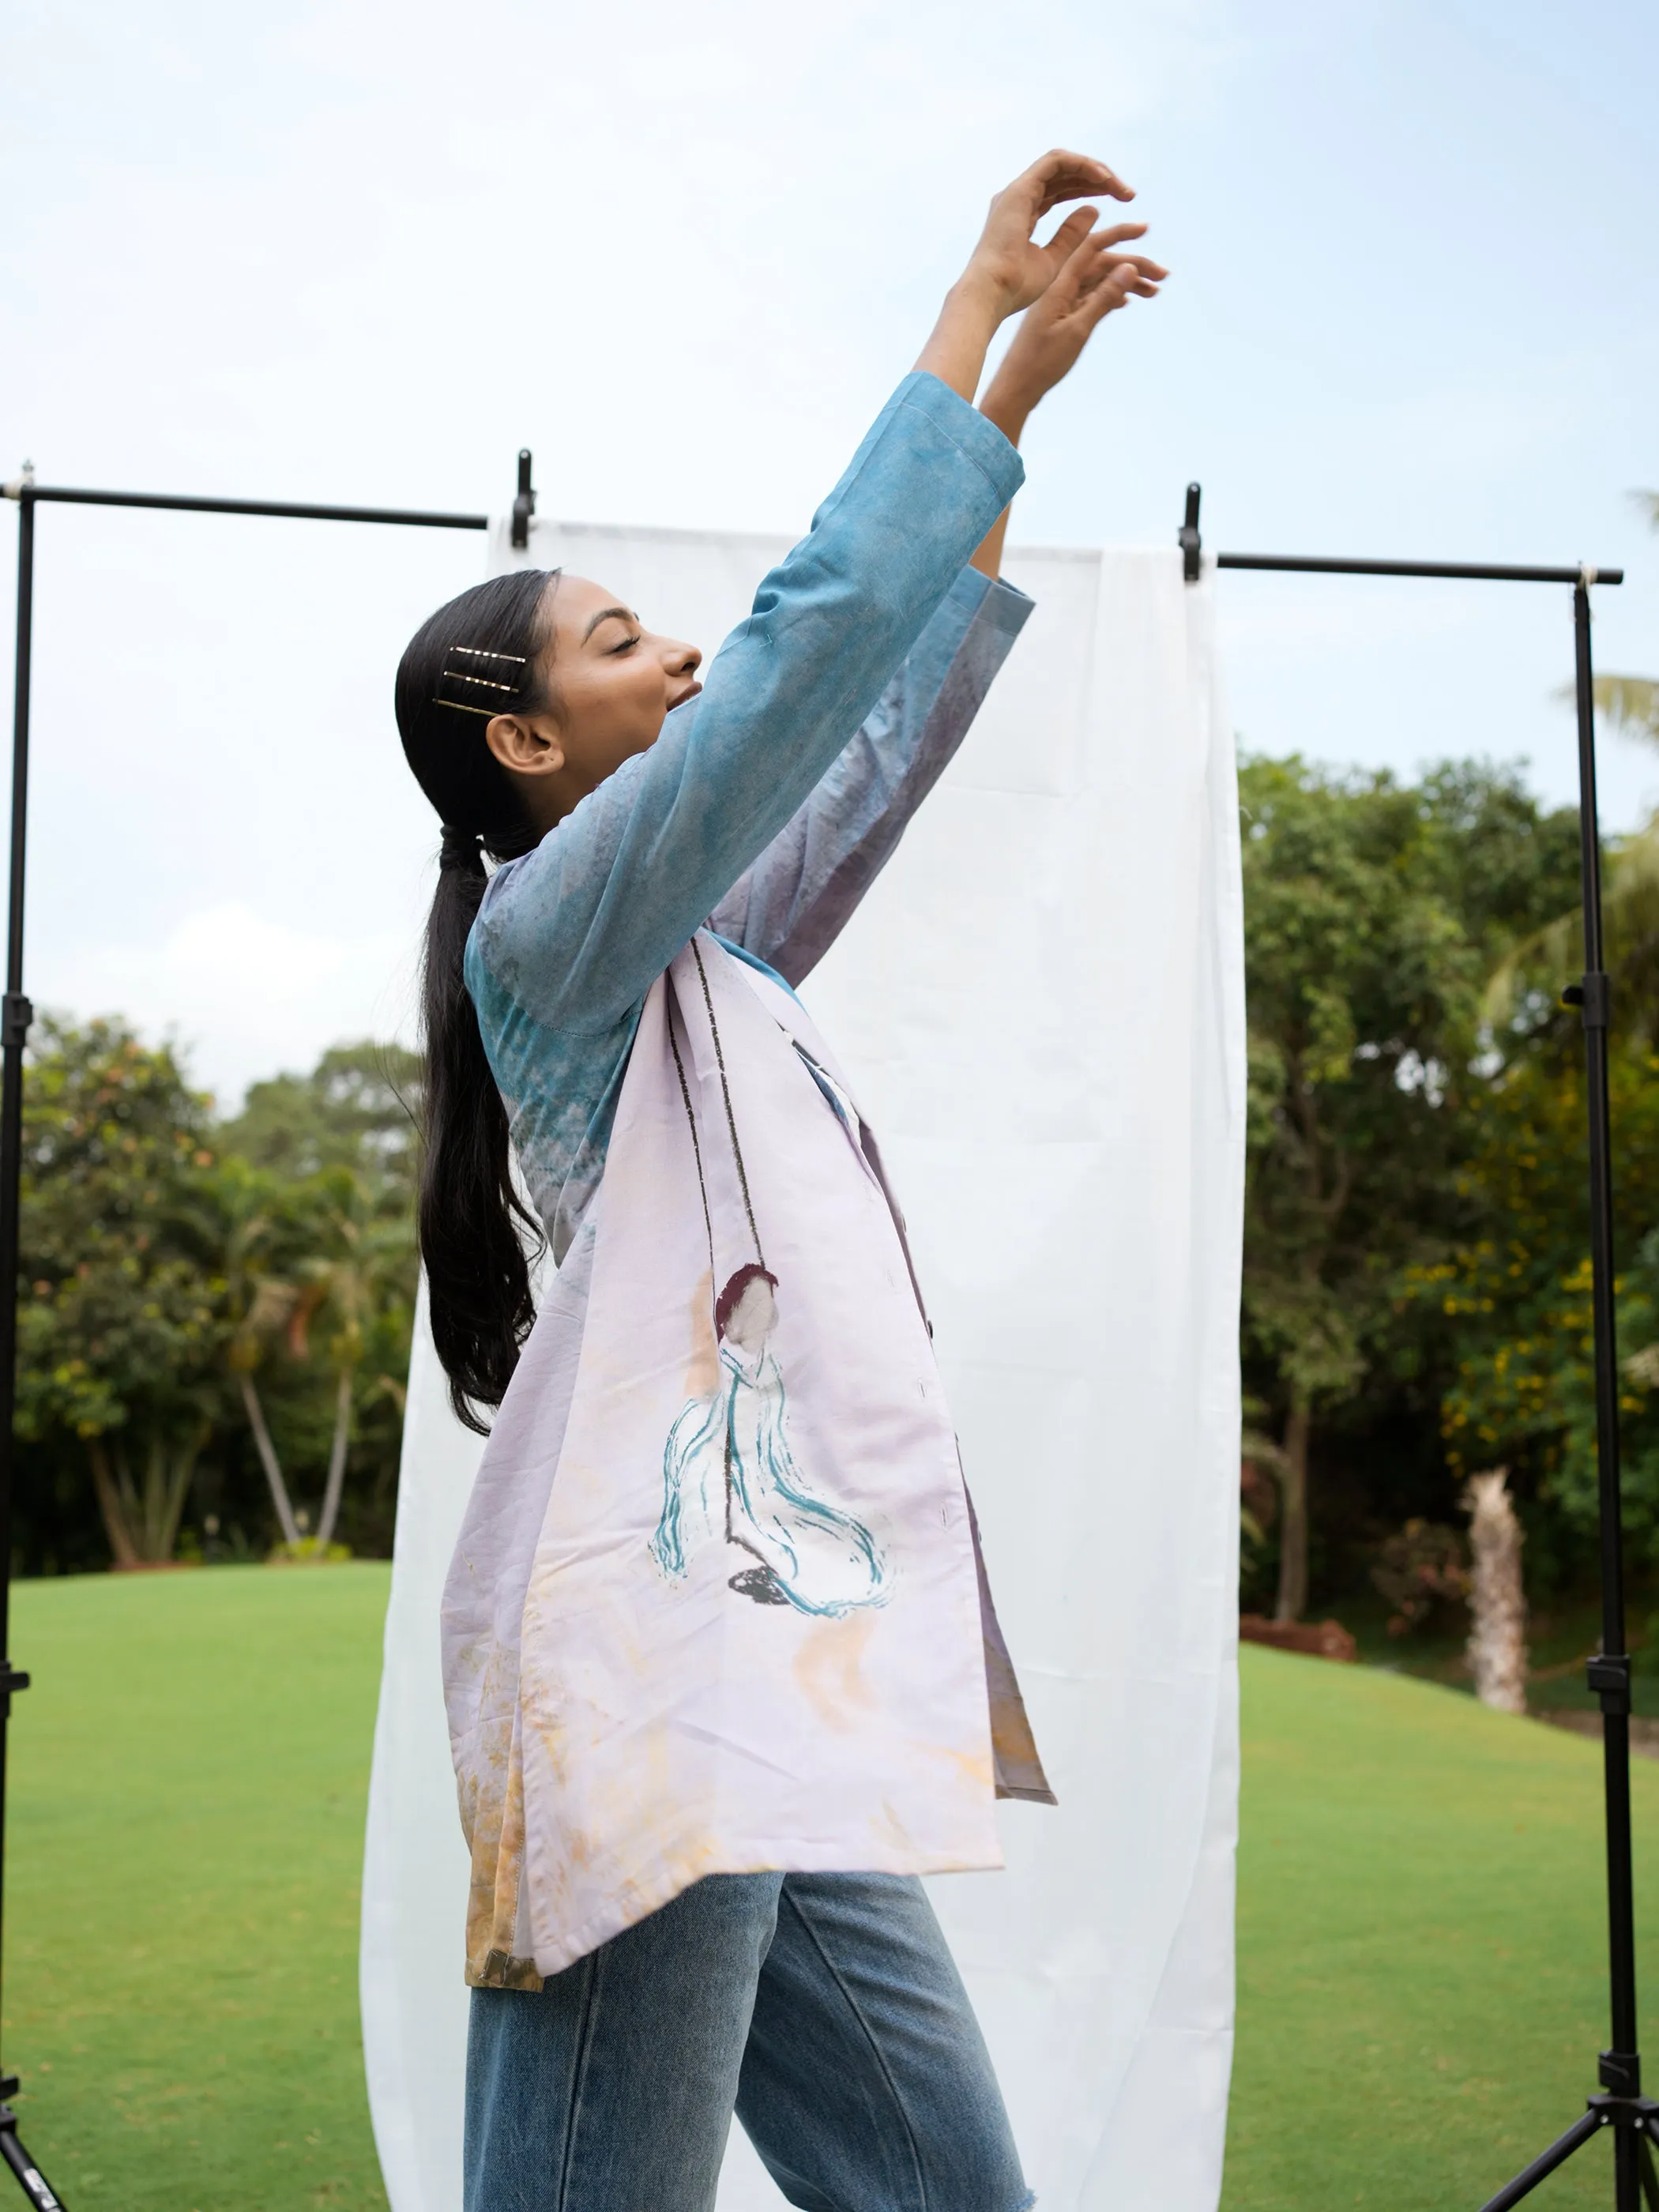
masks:
{"type": "Polygon", "coordinates": [[[447,1588],[482,1982],[560,1973],[706,1874],[1002,1863],[956,1429],[814,1068],[849,1095],[799,1000],[703,931],[646,998],[568,1400],[542,1314],[478,1478],[555,1469],[515,1681],[471,1509],[447,1588]]]}

